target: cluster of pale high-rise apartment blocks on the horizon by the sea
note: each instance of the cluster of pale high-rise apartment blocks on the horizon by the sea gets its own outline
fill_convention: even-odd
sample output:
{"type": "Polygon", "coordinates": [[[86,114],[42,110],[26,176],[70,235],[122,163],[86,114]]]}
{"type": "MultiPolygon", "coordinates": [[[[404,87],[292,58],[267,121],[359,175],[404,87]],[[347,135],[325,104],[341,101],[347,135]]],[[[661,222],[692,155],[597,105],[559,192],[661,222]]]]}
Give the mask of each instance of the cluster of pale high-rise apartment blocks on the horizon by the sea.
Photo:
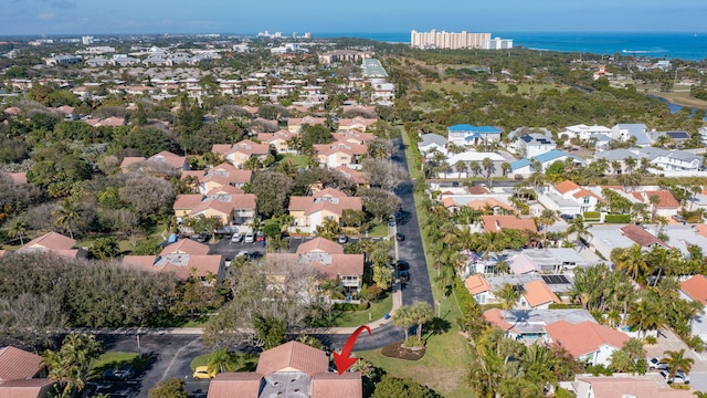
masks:
{"type": "Polygon", "coordinates": [[[513,49],[513,40],[490,38],[490,33],[461,33],[441,31],[434,29],[430,32],[412,31],[410,45],[413,49],[483,49],[502,50],[513,49]]]}

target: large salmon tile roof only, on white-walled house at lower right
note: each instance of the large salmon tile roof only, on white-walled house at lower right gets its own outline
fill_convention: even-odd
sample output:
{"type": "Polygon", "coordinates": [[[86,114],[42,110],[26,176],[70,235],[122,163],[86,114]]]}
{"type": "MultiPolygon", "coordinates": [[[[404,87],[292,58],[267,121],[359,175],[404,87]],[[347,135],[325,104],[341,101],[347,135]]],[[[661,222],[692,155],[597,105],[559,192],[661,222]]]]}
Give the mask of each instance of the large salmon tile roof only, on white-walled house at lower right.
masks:
{"type": "Polygon", "coordinates": [[[545,329],[555,344],[564,347],[574,357],[594,353],[602,345],[621,348],[629,341],[627,335],[589,321],[579,324],[558,321],[546,325],[545,329]]]}

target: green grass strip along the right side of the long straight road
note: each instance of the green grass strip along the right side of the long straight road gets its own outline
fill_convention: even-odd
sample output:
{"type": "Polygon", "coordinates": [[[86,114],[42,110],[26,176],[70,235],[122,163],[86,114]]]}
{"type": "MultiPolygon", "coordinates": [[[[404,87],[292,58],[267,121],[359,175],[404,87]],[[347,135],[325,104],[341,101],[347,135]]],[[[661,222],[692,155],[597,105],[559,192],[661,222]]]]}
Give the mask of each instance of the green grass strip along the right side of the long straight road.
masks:
{"type": "MultiPolygon", "coordinates": [[[[413,150],[409,148],[410,142],[403,133],[403,143],[405,145],[405,156],[410,166],[410,175],[414,180],[420,175],[414,169],[413,150]]],[[[419,203],[421,193],[415,195],[415,201],[419,203]]],[[[424,224],[426,214],[418,212],[420,224],[424,224]]],[[[424,231],[423,231],[424,237],[424,231]]],[[[429,254],[428,264],[431,264],[429,254]]],[[[434,281],[436,271],[428,266],[430,280],[434,281]]],[[[358,356],[371,362],[374,366],[383,368],[387,373],[397,377],[410,377],[432,389],[436,392],[450,398],[469,398],[474,397],[474,392],[469,389],[465,378],[467,375],[467,364],[471,360],[469,344],[465,337],[458,332],[456,320],[461,317],[461,310],[455,297],[444,297],[437,284],[433,282],[432,293],[435,302],[439,303],[435,308],[435,315],[449,322],[449,329],[443,333],[428,332],[425,356],[418,362],[408,362],[394,359],[381,355],[380,349],[359,352],[358,356]]]]}

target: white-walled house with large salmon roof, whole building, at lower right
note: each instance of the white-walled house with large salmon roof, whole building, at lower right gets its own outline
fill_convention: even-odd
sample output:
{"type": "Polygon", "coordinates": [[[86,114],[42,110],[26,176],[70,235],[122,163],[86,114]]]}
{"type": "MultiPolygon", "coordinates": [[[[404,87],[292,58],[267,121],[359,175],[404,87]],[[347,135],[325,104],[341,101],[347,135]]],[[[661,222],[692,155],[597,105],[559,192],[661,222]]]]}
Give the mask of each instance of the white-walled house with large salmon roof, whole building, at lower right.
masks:
{"type": "Polygon", "coordinates": [[[545,329],[548,343],[564,347],[572,356],[591,365],[609,365],[611,354],[629,341],[627,335],[592,322],[559,321],[546,325],[545,329]]]}

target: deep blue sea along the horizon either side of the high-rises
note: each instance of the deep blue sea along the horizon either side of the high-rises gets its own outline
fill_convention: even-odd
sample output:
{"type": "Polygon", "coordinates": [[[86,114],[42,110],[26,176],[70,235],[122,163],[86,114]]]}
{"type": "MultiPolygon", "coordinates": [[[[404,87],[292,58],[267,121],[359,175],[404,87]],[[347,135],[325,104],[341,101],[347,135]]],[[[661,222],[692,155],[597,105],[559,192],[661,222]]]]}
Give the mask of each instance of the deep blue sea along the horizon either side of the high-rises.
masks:
{"type": "MultiPolygon", "coordinates": [[[[316,38],[365,38],[382,42],[410,43],[410,32],[314,33],[316,38]]],[[[539,33],[492,32],[513,39],[514,48],[540,51],[648,56],[701,61],[707,59],[707,32],[683,33],[539,33]]]]}

